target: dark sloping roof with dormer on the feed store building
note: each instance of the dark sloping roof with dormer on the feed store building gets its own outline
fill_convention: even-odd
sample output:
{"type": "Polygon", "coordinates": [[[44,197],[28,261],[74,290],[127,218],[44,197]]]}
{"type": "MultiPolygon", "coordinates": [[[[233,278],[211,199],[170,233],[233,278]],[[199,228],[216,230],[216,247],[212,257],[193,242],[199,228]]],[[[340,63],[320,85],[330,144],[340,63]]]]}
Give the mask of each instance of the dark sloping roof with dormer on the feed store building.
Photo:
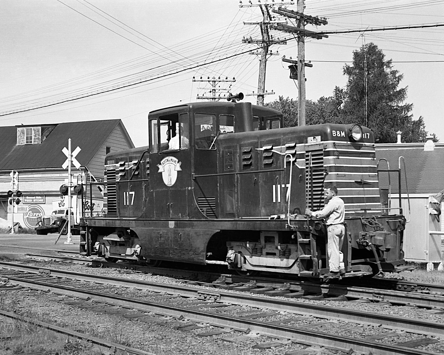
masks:
{"type": "Polygon", "coordinates": [[[17,145],[17,127],[21,126],[0,127],[0,170],[61,168],[67,158],[62,149],[68,147],[68,138],[71,150],[82,149],[75,158],[87,166],[117,125],[133,146],[120,119],[35,124],[33,127],[42,127],[42,137],[44,130],[48,134],[40,144],[17,145]]]}

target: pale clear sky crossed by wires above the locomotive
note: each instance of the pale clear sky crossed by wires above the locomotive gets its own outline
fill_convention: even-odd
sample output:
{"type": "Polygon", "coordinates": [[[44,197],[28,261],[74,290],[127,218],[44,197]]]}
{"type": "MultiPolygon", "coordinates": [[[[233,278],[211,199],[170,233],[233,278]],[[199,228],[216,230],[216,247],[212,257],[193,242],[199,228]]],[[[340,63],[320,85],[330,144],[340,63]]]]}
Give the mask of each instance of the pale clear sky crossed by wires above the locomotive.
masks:
{"type": "MultiPolygon", "coordinates": [[[[151,110],[208,95],[210,84],[193,77],[235,78],[218,83],[222,96],[257,93],[259,58],[241,53],[256,48],[242,38],[260,38],[258,25],[244,22],[262,16],[258,6],[239,5],[239,0],[0,1],[0,126],[120,118],[135,146],[145,146],[151,110]],[[36,108],[44,105],[51,106],[36,108]],[[26,111],[11,113],[17,110],[26,111]]],[[[296,4],[284,6],[296,10],[296,4]]],[[[305,13],[328,21],[306,26],[313,31],[443,24],[444,0],[305,0],[305,13]]],[[[284,55],[296,59],[296,40],[272,34],[287,38],[287,44],[270,47],[278,55],[267,61],[266,90],[275,94],[265,102],[279,95],[297,99],[296,83],[281,61],[284,55]]],[[[305,70],[306,98],[344,87],[343,67],[351,64],[353,51],[373,42],[404,75],[400,87],[408,87],[413,118],[423,116],[426,130],[443,142],[443,35],[444,27],[435,27],[307,39],[305,60],[313,67],[305,70]]]]}

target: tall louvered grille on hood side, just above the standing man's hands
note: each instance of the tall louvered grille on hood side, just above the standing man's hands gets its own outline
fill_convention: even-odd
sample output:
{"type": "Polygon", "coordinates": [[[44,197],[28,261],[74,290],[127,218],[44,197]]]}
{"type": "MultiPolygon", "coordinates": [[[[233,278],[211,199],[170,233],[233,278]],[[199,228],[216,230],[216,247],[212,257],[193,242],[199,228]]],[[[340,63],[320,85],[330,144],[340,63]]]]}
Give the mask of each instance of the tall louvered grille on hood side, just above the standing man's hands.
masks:
{"type": "Polygon", "coordinates": [[[312,150],[305,153],[305,198],[307,207],[311,210],[322,209],[324,207],[324,151],[312,150]],[[310,154],[311,168],[310,169],[310,154]],[[312,173],[310,172],[312,170],[312,173]],[[313,176],[313,182],[311,181],[313,176]],[[312,198],[313,184],[313,198],[312,198]]]}

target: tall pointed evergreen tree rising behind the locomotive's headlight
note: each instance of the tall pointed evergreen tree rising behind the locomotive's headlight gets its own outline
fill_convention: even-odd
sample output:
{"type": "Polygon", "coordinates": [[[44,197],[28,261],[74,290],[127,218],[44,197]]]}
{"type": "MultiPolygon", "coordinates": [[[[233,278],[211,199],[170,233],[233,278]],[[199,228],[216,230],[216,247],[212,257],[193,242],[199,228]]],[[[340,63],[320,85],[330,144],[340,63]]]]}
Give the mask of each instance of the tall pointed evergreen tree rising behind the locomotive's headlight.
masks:
{"type": "Polygon", "coordinates": [[[396,142],[396,131],[403,132],[407,142],[424,142],[427,136],[424,120],[412,119],[411,103],[404,103],[407,87],[398,88],[403,75],[385,60],[374,43],[353,51],[352,65],[345,65],[348,82],[343,92],[341,121],[369,127],[375,142],[396,142]]]}

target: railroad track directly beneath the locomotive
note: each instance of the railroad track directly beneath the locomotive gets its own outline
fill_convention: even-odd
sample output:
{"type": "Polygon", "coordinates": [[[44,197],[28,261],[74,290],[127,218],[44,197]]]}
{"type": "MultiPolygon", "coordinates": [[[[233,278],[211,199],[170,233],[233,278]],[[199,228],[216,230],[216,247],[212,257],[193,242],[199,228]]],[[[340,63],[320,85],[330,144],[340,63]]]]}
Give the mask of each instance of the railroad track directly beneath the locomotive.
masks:
{"type": "Polygon", "coordinates": [[[207,285],[211,281],[219,280],[218,287],[225,289],[236,288],[238,291],[253,293],[266,293],[268,296],[303,297],[310,295],[318,300],[329,297],[344,297],[347,300],[370,300],[372,302],[390,303],[404,306],[415,306],[422,308],[444,309],[444,285],[420,284],[404,280],[394,279],[353,279],[349,281],[335,280],[331,283],[316,284],[306,281],[279,280],[275,278],[257,277],[253,280],[249,277],[226,275],[220,273],[201,272],[195,270],[171,270],[167,268],[150,268],[138,264],[109,263],[103,259],[85,259],[77,256],[46,256],[29,254],[31,257],[43,260],[59,260],[77,264],[88,264],[91,266],[103,266],[113,268],[131,268],[141,272],[167,274],[172,272],[176,277],[192,277],[194,279],[205,279],[199,284],[207,285]],[[363,284],[365,286],[357,286],[363,284]],[[373,286],[373,287],[372,287],[373,286]],[[268,288],[268,289],[266,289],[268,288]],[[262,289],[262,290],[261,290],[262,289]]]}

